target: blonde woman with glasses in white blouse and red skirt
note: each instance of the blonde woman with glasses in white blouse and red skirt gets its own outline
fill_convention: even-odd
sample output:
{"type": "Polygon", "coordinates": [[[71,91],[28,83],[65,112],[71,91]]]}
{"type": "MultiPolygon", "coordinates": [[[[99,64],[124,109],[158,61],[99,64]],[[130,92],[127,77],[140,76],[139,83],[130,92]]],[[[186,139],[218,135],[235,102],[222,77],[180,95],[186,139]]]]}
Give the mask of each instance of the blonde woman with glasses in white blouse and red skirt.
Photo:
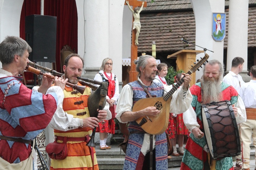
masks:
{"type": "Polygon", "coordinates": [[[95,75],[94,80],[101,82],[108,82],[108,94],[106,96],[106,101],[110,105],[110,111],[112,112],[112,119],[99,122],[99,126],[96,132],[100,133],[100,149],[106,150],[111,149],[110,146],[106,145],[106,140],[108,134],[115,134],[115,105],[119,97],[119,83],[116,75],[112,73],[113,62],[111,58],[105,58],[102,61],[100,71],[95,75]]]}

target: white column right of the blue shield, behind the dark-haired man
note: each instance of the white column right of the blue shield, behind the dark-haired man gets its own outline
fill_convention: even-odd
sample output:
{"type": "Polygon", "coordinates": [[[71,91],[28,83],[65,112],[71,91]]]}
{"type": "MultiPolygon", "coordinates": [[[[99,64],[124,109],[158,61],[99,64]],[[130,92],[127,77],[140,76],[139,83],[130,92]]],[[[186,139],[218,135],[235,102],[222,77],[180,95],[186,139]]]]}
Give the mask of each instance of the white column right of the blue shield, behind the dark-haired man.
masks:
{"type": "Polygon", "coordinates": [[[244,58],[243,71],[239,73],[244,82],[251,80],[247,75],[248,43],[248,0],[229,1],[227,71],[234,57],[244,58]]]}

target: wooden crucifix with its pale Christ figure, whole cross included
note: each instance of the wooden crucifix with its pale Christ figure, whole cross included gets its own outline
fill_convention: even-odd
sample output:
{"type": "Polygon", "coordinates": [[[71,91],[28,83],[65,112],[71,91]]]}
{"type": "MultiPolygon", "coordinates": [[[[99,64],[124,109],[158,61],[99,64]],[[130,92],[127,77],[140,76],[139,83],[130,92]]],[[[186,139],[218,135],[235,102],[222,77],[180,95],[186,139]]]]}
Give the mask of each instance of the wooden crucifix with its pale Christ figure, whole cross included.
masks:
{"type": "MultiPolygon", "coordinates": [[[[128,5],[129,9],[130,5],[132,6],[132,10],[133,11],[133,17],[132,17],[132,23],[134,22],[134,17],[136,17],[136,15],[134,15],[135,12],[137,12],[138,14],[142,11],[143,7],[147,6],[147,2],[144,1],[137,1],[137,0],[129,0],[128,4],[125,1],[125,5],[128,5]],[[142,6],[143,4],[143,6],[142,6]],[[134,9],[137,6],[141,6],[140,10],[136,10],[134,9]]],[[[137,18],[136,20],[139,21],[139,15],[137,14],[137,18]]],[[[135,23],[138,24],[138,23],[135,23]]],[[[133,23],[133,28],[136,28],[137,26],[134,25],[133,23]]],[[[139,28],[140,29],[140,28],[139,28]]],[[[136,71],[136,65],[133,63],[134,60],[137,60],[138,58],[138,36],[139,36],[139,32],[137,33],[137,28],[136,29],[132,29],[132,40],[131,40],[131,70],[129,72],[129,82],[133,82],[137,80],[137,74],[138,72],[136,71]],[[137,36],[136,36],[137,34],[137,36]]]]}

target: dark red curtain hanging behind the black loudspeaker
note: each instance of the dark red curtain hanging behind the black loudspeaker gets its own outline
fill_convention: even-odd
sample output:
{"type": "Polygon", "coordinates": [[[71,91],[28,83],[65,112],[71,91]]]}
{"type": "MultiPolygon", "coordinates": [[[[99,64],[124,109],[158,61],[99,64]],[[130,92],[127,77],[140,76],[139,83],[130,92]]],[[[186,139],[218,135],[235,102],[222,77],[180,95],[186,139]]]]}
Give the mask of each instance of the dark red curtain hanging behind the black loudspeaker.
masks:
{"type": "MultiPolygon", "coordinates": [[[[25,39],[25,17],[33,14],[40,15],[40,7],[41,0],[24,0],[20,15],[21,38],[25,39]]],[[[71,49],[75,49],[77,52],[77,9],[75,0],[44,0],[44,15],[57,17],[55,70],[60,72],[60,50],[63,46],[69,45],[71,49]]]]}

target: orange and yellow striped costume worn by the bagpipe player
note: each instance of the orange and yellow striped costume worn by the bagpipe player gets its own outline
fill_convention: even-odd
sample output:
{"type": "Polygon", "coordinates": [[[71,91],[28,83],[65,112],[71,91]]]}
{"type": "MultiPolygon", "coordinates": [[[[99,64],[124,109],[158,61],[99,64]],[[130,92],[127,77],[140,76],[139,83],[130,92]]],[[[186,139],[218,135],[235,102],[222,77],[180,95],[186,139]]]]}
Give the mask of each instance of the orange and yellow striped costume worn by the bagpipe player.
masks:
{"type": "MultiPolygon", "coordinates": [[[[78,83],[78,85],[81,85],[78,83]]],[[[74,118],[87,118],[90,117],[88,111],[88,97],[91,94],[91,89],[86,87],[84,94],[71,94],[74,91],[71,87],[65,87],[64,100],[63,100],[63,110],[68,114],[74,116],[74,118]],[[78,101],[84,101],[82,104],[74,104],[78,101]],[[77,113],[86,112],[85,115],[77,116],[77,113]]],[[[54,130],[54,135],[56,136],[65,136],[65,137],[85,137],[88,134],[92,133],[90,128],[78,128],[69,131],[59,131],[54,130]]],[[[58,140],[58,142],[62,142],[58,140]]],[[[92,163],[90,149],[86,146],[86,142],[67,142],[68,156],[63,160],[51,160],[51,170],[54,169],[72,169],[72,170],[98,170],[98,163],[96,159],[95,149],[94,152],[94,164],[92,163]]]]}

